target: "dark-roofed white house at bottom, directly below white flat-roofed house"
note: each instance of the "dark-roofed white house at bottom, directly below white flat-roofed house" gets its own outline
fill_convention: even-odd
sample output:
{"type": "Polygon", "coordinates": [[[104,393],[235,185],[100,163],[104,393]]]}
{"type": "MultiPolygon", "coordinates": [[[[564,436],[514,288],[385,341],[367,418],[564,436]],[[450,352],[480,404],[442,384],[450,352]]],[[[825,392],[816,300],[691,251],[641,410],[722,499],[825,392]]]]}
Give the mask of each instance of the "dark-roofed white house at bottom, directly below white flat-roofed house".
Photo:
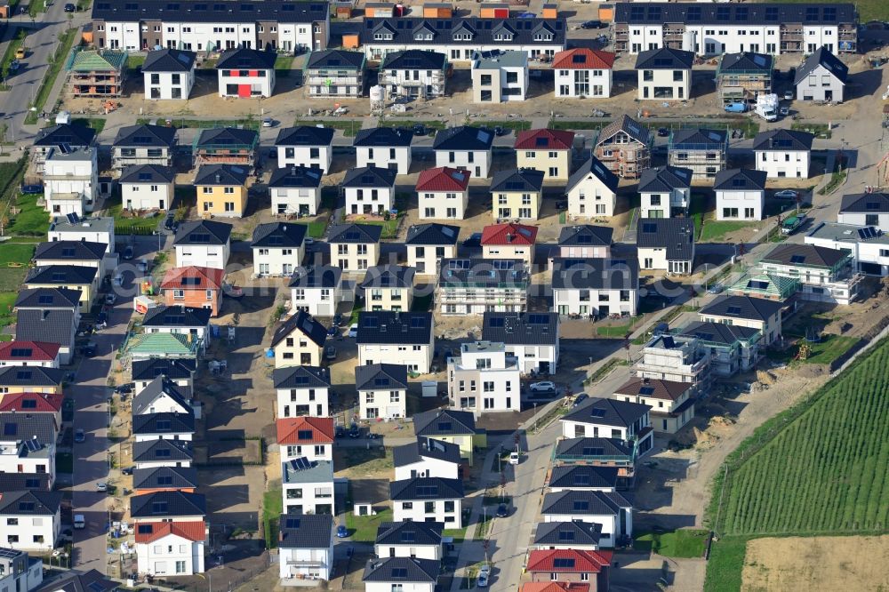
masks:
{"type": "Polygon", "coordinates": [[[287,580],[331,580],[333,516],[282,514],[278,521],[278,577],[287,580]]]}

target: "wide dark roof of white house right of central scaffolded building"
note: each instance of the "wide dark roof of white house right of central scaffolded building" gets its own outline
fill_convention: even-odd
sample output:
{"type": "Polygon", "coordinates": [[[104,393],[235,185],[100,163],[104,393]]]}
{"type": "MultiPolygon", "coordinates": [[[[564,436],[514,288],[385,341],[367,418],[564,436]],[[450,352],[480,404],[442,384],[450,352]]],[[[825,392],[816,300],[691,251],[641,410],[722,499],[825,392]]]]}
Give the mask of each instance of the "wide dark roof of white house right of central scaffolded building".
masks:
{"type": "Polygon", "coordinates": [[[639,260],[562,259],[553,260],[553,290],[638,290],[639,260]]]}

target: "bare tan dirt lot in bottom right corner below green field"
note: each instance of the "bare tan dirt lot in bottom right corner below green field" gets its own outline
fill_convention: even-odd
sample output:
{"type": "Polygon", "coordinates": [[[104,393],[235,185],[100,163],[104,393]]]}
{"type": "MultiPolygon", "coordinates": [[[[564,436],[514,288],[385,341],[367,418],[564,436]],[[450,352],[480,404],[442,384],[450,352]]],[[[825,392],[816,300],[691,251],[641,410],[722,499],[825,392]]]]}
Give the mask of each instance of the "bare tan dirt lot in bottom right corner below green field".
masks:
{"type": "Polygon", "coordinates": [[[755,539],[747,543],[741,590],[885,590],[887,562],[889,536],[755,539]]]}

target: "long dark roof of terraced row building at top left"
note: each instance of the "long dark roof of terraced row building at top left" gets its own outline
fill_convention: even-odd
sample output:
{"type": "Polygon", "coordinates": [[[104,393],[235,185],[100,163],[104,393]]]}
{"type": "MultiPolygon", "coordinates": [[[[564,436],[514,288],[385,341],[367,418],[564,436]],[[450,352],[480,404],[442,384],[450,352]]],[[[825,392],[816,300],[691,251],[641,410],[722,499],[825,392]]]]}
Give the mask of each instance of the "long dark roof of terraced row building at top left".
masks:
{"type": "Polygon", "coordinates": [[[263,0],[261,3],[237,2],[207,3],[202,0],[141,0],[140,2],[115,2],[97,0],[92,4],[92,20],[111,22],[139,22],[167,20],[169,22],[207,23],[232,22],[279,23],[324,22],[330,8],[326,2],[290,2],[289,0],[263,0]]]}

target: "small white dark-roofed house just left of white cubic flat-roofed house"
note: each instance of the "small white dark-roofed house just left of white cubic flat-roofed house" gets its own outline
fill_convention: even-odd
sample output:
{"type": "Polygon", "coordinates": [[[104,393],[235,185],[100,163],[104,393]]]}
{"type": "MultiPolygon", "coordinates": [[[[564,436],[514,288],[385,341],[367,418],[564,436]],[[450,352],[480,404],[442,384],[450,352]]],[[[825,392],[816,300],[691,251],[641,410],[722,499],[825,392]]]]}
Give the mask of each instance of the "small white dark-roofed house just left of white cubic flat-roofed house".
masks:
{"type": "Polygon", "coordinates": [[[407,416],[407,367],[366,364],[355,367],[358,417],[391,420],[407,416]]]}

